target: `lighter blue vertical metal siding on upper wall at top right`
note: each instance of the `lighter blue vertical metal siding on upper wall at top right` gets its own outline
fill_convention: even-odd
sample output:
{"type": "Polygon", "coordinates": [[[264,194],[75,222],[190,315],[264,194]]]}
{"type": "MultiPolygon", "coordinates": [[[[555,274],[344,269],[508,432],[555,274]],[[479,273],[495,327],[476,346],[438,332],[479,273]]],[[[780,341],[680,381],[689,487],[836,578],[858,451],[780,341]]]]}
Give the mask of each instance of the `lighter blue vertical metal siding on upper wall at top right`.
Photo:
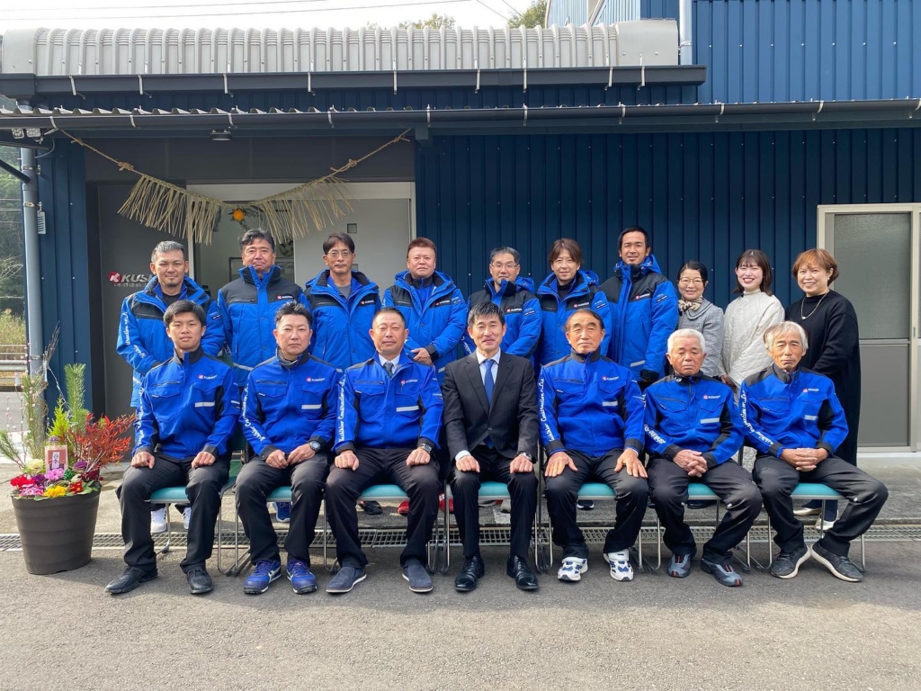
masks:
{"type": "MultiPolygon", "coordinates": [[[[670,6],[644,0],[644,17],[670,6]]],[[[703,102],[921,96],[913,0],[694,0],[693,30],[703,102]]]]}

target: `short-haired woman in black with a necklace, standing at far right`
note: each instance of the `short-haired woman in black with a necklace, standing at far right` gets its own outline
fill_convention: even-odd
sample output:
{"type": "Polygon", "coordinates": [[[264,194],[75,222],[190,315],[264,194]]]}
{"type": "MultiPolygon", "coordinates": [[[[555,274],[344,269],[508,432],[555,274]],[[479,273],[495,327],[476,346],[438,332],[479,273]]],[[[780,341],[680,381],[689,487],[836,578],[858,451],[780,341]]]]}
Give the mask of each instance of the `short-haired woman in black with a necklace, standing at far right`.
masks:
{"type": "MultiPolygon", "coordinates": [[[[847,438],[835,455],[857,465],[857,426],[860,422],[860,347],[857,312],[850,300],[829,288],[838,277],[834,257],[822,249],[802,252],[793,264],[793,277],[806,293],[787,308],[787,320],[803,327],[809,349],[802,367],[834,382],[834,392],[845,409],[847,438]]],[[[794,511],[799,516],[817,515],[821,502],[810,502],[794,511]]],[[[838,503],[826,502],[825,528],[837,517],[838,503]]],[[[822,519],[820,519],[821,521],[822,519]]]]}

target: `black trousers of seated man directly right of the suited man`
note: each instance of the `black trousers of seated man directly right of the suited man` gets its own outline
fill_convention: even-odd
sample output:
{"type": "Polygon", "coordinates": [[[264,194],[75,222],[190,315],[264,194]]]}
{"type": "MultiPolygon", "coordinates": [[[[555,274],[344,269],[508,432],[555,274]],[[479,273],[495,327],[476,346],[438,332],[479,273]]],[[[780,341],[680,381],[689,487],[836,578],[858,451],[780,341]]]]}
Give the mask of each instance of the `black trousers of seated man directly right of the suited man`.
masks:
{"type": "Polygon", "coordinates": [[[547,510],[554,520],[552,537],[554,545],[563,547],[564,559],[567,556],[589,558],[589,545],[586,545],[585,535],[576,522],[576,500],[579,488],[596,478],[610,486],[617,495],[616,519],[604,540],[604,551],[620,552],[636,542],[646,515],[649,486],[646,478],[632,477],[627,474],[626,468],[619,473],[614,472],[621,453],[623,450],[615,449],[591,458],[578,451],[569,451],[577,471],[564,468],[562,474],[546,479],[544,494],[547,510]]]}

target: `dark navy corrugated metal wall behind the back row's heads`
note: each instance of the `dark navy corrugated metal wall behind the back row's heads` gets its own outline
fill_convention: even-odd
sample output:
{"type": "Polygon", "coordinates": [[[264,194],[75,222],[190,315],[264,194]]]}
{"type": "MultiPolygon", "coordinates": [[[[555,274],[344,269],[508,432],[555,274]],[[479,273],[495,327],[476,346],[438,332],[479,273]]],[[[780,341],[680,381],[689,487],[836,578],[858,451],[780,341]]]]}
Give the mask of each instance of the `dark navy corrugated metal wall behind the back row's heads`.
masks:
{"type": "Polygon", "coordinates": [[[762,248],[786,304],[817,205],[921,202],[921,128],[445,137],[419,149],[416,171],[418,232],[465,295],[497,245],[516,247],[540,281],[551,243],[573,237],[606,277],[617,234],[638,223],[666,275],[687,259],[711,267],[708,297],[721,306],[736,257],[762,248]]]}

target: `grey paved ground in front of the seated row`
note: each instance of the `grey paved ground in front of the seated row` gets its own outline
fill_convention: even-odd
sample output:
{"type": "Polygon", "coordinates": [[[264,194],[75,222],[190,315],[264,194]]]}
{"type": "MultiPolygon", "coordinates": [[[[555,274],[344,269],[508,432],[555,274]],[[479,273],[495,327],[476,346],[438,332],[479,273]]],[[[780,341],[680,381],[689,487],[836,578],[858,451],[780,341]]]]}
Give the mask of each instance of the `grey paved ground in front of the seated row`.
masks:
{"type": "Polygon", "coordinates": [[[534,593],[514,589],[496,547],[465,595],[441,577],[411,593],[384,549],[344,596],[297,596],[286,581],[246,596],[239,579],[218,577],[199,597],[179,555],[112,597],[102,586],[121,570],[117,552],[48,577],[0,553],[0,688],[921,687],[921,545],[873,545],[861,584],[810,562],[795,580],[754,574],[737,590],[696,568],[687,580],[616,583],[597,552],[581,583],[543,576],[534,593]]]}

